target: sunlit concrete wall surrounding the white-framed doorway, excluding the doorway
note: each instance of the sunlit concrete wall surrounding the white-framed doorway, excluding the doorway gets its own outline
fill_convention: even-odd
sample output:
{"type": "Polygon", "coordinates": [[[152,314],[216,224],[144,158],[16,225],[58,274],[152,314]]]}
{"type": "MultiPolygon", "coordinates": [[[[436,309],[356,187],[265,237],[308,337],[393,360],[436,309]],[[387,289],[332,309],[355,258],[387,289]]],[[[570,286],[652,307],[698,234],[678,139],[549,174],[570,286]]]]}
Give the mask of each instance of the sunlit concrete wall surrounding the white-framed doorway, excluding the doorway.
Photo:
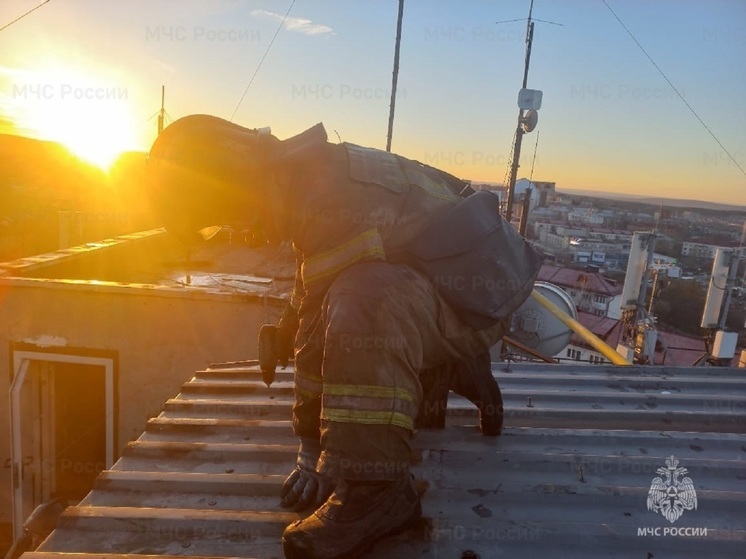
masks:
{"type": "MultiPolygon", "coordinates": [[[[95,258],[89,259],[97,269],[93,277],[104,269],[126,268],[126,251],[114,251],[107,268],[97,248],[111,246],[93,247],[95,258]]],[[[141,244],[139,248],[141,256],[134,261],[147,266],[149,261],[142,254],[153,247],[141,244]]],[[[64,279],[53,279],[55,268],[49,262],[54,258],[47,256],[27,266],[3,265],[0,408],[5,412],[10,406],[14,346],[27,351],[113,356],[116,459],[123,446],[143,431],[148,418],[158,415],[163,403],[189,380],[186,372],[214,362],[255,358],[258,328],[277,320],[283,301],[266,292],[80,279],[86,277],[86,259],[79,258],[80,252],[57,255],[57,269],[67,268],[64,279]],[[70,255],[78,260],[72,268],[70,255]],[[40,263],[44,263],[43,270],[38,269],[40,263]],[[78,278],[69,279],[75,275],[78,278]]],[[[5,465],[0,468],[0,522],[11,521],[10,458],[10,419],[5,412],[0,413],[0,464],[5,465]]]]}

